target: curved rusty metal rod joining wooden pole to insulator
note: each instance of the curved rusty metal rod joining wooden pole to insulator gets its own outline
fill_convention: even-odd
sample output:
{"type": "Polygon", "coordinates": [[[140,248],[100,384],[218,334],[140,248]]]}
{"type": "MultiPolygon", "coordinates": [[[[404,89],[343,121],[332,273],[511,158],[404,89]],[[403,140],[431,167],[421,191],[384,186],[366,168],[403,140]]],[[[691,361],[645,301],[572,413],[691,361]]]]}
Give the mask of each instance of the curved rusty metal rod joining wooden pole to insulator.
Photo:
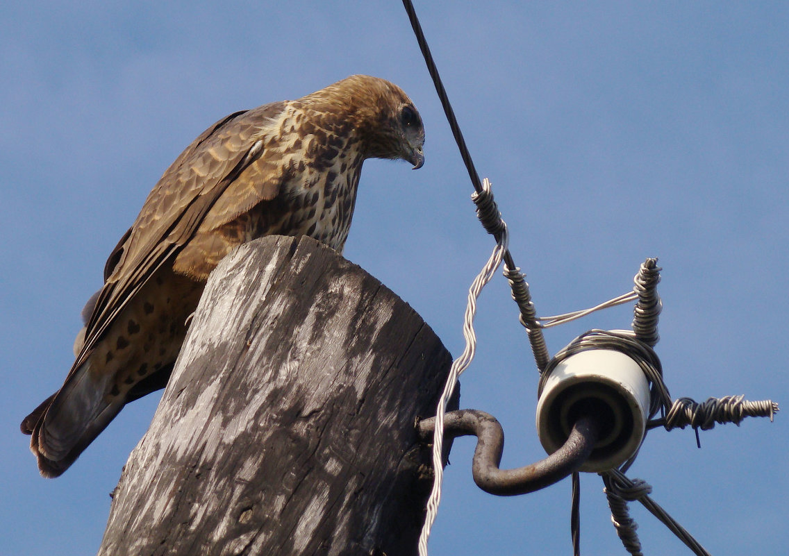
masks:
{"type": "MultiPolygon", "coordinates": [[[[436,418],[421,420],[419,434],[430,440],[436,428],[436,418]]],[[[472,473],[474,483],[483,491],[499,496],[514,496],[539,491],[578,471],[589,459],[597,442],[599,426],[591,416],[581,417],[570,432],[564,446],[544,460],[515,469],[499,469],[504,450],[504,431],[499,421],[489,413],[476,409],[461,409],[444,415],[444,433],[451,437],[474,435],[472,473]]]]}

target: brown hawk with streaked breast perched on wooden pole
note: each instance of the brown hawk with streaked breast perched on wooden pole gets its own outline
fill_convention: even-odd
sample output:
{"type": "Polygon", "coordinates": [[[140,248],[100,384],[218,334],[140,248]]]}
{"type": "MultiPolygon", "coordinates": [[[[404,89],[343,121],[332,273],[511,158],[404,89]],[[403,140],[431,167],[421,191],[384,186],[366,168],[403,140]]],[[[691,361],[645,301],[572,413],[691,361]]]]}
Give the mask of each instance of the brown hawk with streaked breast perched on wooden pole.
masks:
{"type": "Polygon", "coordinates": [[[164,386],[208,274],[232,248],[282,234],[342,252],[362,162],[420,168],[423,144],[406,93],[361,75],[197,137],[107,259],[63,386],[21,424],[41,474],[61,475],[127,402],[164,386]]]}

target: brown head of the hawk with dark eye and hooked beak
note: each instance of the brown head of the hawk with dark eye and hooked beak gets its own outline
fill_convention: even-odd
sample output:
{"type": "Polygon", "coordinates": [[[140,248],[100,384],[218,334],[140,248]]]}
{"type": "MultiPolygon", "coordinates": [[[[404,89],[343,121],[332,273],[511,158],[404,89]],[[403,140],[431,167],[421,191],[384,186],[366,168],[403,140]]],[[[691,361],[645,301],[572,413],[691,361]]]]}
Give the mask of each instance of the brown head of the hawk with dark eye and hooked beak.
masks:
{"type": "MultiPolygon", "coordinates": [[[[390,81],[353,75],[313,93],[336,103],[353,125],[365,159],[403,159],[424,164],[424,126],[413,102],[390,81]]],[[[305,97],[308,99],[309,97],[305,97]]]]}

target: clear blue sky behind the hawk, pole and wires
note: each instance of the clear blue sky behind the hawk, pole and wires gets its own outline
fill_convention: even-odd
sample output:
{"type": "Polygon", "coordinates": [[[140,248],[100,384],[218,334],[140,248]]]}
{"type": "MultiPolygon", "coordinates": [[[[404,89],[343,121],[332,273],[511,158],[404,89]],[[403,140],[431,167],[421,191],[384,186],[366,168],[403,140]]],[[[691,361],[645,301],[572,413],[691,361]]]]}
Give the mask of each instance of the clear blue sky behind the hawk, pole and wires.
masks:
{"type": "MultiPolygon", "coordinates": [[[[630,289],[660,257],[660,356],[673,397],[789,404],[789,8],[783,2],[416,2],[466,141],[493,182],[537,311],[630,289]]],[[[17,431],[62,383],[84,300],[178,153],[235,110],[352,73],[404,88],[424,168],[368,161],[345,255],[455,355],[466,289],[492,248],[400,2],[6,2],[0,7],[0,552],[92,554],[159,396],[129,405],[43,480],[17,431]]],[[[552,353],[630,308],[548,332],[552,353]]],[[[477,317],[464,407],[507,434],[503,465],[544,456],[537,374],[499,275],[477,317]]],[[[712,554],[789,541],[787,418],[650,433],[630,476],[712,554]]],[[[432,554],[570,554],[570,485],[477,490],[455,442],[432,554]]],[[[583,554],[625,554],[582,476],[583,554]]],[[[640,506],[646,554],[690,554],[640,506]]]]}

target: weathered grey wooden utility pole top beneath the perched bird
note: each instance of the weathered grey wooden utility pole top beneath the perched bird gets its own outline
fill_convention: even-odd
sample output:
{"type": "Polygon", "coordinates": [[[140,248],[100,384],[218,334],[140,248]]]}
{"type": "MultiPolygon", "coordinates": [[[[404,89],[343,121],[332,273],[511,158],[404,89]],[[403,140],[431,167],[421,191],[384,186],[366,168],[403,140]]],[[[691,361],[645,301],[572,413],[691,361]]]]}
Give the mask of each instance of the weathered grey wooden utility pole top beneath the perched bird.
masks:
{"type": "Polygon", "coordinates": [[[241,246],[211,274],[99,554],[416,554],[432,473],[414,420],[450,364],[413,309],[316,241],[241,246]]]}

